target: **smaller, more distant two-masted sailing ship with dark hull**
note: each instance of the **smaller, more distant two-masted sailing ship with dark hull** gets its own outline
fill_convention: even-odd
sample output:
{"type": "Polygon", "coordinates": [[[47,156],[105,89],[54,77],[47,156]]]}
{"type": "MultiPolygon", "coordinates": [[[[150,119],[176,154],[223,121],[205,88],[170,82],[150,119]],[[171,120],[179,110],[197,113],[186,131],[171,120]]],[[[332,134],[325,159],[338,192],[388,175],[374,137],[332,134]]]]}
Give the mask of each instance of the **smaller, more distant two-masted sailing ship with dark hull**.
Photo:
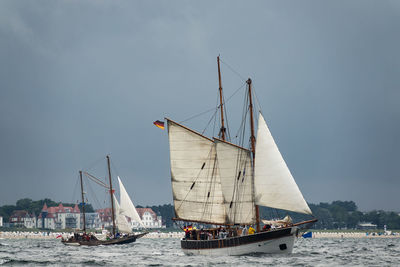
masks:
{"type": "Polygon", "coordinates": [[[83,191],[83,179],[82,171],[79,171],[80,183],[81,183],[81,196],[82,196],[82,219],[83,229],[82,233],[75,233],[68,239],[62,239],[61,242],[65,245],[70,246],[99,246],[99,245],[121,245],[135,242],[136,239],[146,235],[148,232],[134,234],[132,227],[129,225],[127,217],[131,220],[138,222],[143,228],[145,228],[139,214],[136,211],[135,206],[132,203],[121,179],[118,177],[119,189],[120,189],[120,201],[118,203],[115,197],[112,179],[111,179],[111,168],[110,168],[110,157],[107,155],[107,167],[109,184],[105,184],[95,176],[85,172],[85,175],[95,181],[100,186],[106,188],[110,193],[111,201],[111,219],[112,219],[112,235],[107,236],[105,239],[99,239],[96,235],[86,233],[86,218],[85,218],[85,196],[83,191]],[[117,232],[118,229],[118,232],[117,232]]]}

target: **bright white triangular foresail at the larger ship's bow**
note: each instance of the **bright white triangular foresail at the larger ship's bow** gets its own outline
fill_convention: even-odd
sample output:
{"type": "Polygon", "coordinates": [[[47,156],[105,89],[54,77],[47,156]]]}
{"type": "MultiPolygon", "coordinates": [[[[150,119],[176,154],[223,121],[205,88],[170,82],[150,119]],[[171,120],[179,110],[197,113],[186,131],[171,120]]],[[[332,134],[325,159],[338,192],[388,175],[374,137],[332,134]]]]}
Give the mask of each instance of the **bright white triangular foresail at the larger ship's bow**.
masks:
{"type": "Polygon", "coordinates": [[[257,205],[311,214],[260,113],[258,119],[254,190],[257,205]]]}

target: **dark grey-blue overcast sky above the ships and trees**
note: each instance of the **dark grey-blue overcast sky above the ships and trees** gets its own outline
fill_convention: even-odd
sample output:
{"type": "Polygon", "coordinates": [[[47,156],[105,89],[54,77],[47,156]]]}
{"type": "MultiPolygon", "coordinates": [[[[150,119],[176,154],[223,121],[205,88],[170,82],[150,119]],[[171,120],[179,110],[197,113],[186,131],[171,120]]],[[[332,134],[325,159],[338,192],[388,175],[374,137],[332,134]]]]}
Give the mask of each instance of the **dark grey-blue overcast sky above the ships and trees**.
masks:
{"type": "Polygon", "coordinates": [[[308,202],[400,211],[399,29],[395,0],[1,1],[0,205],[76,202],[107,154],[135,204],[172,203],[153,121],[215,107],[221,55],[225,97],[251,77],[308,202]]]}

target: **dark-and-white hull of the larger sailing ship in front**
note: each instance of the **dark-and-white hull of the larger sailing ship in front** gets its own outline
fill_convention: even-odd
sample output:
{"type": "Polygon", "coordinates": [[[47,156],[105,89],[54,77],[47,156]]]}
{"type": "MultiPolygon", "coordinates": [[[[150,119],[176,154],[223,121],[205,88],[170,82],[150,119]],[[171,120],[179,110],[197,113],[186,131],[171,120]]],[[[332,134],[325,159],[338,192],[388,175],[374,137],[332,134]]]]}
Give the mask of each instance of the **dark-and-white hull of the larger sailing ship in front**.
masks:
{"type": "Polygon", "coordinates": [[[181,240],[187,255],[246,255],[254,253],[291,253],[297,227],[260,232],[253,235],[215,240],[181,240]]]}

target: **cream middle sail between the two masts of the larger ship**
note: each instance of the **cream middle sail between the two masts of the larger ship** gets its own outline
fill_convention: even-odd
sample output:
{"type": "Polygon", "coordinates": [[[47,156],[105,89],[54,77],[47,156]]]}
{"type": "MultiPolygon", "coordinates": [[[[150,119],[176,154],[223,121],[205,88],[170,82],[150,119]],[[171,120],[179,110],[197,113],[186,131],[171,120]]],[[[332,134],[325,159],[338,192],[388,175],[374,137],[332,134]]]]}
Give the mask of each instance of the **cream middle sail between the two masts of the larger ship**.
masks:
{"type": "Polygon", "coordinates": [[[227,142],[215,142],[228,223],[254,224],[256,216],[250,151],[227,142]]]}

